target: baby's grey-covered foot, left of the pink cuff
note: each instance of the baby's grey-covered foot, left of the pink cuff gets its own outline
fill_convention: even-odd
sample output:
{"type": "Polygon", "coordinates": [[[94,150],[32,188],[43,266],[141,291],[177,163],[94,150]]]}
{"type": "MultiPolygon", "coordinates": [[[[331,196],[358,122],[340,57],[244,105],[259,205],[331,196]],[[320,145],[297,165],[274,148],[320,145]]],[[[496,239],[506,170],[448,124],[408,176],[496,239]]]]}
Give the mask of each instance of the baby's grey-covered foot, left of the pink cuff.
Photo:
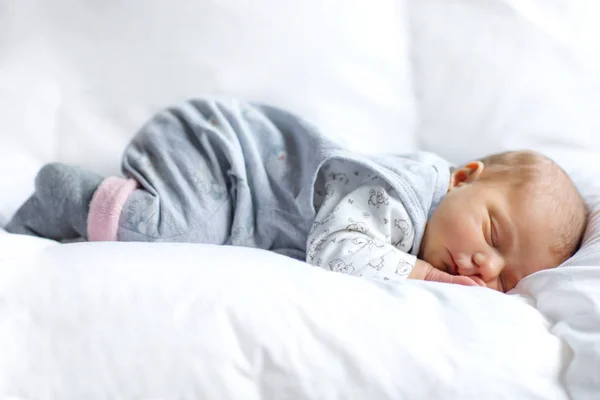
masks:
{"type": "Polygon", "coordinates": [[[44,166],[35,178],[35,192],[6,230],[54,240],[87,237],[89,204],[102,180],[79,167],[57,163],[44,166]]]}

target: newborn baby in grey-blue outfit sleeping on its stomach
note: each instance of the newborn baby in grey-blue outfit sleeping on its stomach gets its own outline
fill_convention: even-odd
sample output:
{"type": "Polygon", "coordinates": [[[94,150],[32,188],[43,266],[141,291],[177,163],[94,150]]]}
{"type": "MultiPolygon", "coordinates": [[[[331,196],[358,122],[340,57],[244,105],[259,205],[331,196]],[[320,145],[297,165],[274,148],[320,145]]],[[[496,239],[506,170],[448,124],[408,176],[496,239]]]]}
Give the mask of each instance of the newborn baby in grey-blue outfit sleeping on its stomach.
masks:
{"type": "Polygon", "coordinates": [[[248,246],[367,279],[506,292],[569,258],[587,221],[567,174],[540,154],[460,168],[426,152],[358,154],[282,109],[235,100],[157,114],[122,171],[46,165],[6,229],[248,246]]]}

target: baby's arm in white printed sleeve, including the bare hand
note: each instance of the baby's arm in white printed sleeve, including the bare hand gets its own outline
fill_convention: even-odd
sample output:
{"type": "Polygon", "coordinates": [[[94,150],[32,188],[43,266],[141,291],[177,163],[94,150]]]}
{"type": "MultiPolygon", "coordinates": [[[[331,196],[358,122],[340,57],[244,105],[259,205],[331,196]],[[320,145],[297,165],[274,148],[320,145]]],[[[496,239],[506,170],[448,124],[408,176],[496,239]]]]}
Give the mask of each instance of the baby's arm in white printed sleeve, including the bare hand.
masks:
{"type": "Polygon", "coordinates": [[[475,285],[408,253],[414,241],[411,219],[400,200],[384,189],[383,181],[376,179],[351,191],[339,182],[327,185],[328,198],[308,237],[308,263],[371,279],[475,285]]]}

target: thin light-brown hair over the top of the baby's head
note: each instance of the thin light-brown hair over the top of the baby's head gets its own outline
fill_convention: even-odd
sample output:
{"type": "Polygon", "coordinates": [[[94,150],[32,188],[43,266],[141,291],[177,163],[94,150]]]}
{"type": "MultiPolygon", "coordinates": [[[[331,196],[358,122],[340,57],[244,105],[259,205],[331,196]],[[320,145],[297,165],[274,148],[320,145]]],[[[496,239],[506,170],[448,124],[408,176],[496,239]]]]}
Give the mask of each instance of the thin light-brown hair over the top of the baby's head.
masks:
{"type": "Polygon", "coordinates": [[[533,201],[548,199],[548,218],[554,219],[557,227],[550,251],[561,263],[577,251],[586,229],[588,209],[575,184],[558,164],[534,151],[507,151],[479,161],[485,167],[482,180],[503,181],[521,193],[525,190],[533,201]]]}

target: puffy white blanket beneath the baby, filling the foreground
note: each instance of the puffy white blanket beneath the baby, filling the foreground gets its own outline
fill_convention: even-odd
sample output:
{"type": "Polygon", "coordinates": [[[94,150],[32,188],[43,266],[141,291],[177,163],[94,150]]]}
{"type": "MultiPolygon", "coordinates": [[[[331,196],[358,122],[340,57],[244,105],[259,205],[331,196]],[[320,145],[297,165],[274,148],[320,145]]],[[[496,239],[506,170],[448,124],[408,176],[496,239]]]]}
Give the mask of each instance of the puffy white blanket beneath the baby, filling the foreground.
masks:
{"type": "Polygon", "coordinates": [[[528,302],[251,249],[0,243],[0,397],[566,399],[585,379],[563,371],[590,346],[544,317],[575,289],[532,306],[560,274],[528,302]]]}

